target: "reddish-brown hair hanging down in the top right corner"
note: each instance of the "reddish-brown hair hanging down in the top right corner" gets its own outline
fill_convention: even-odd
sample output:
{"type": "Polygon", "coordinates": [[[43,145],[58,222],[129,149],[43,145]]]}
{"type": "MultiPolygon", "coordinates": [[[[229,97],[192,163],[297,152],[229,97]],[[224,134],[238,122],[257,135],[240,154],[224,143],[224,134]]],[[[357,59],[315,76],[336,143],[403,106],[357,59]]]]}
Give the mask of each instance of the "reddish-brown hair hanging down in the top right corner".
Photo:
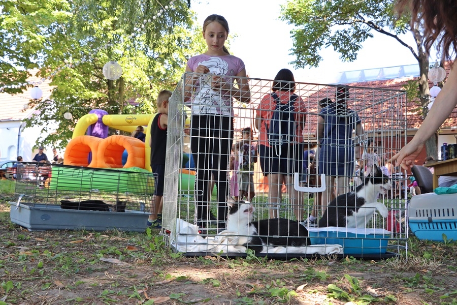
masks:
{"type": "Polygon", "coordinates": [[[422,23],[423,45],[427,54],[437,40],[437,49],[443,51],[444,59],[451,60],[452,54],[457,53],[455,0],[397,0],[395,8],[399,15],[410,10],[411,26],[422,23]]]}

